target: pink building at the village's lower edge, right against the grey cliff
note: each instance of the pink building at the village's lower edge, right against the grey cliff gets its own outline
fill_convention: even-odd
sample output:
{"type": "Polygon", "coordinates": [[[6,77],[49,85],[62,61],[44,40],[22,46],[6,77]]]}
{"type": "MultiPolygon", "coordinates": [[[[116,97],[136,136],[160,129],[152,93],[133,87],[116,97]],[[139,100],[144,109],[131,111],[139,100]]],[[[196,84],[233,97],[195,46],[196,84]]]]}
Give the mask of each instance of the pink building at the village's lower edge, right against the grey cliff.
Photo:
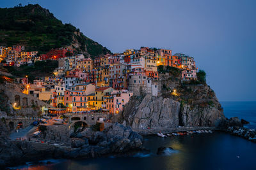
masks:
{"type": "Polygon", "coordinates": [[[114,90],[111,92],[111,97],[107,99],[106,108],[109,113],[120,113],[124,110],[124,105],[129,102],[130,97],[133,95],[132,92],[127,90],[114,90]]]}

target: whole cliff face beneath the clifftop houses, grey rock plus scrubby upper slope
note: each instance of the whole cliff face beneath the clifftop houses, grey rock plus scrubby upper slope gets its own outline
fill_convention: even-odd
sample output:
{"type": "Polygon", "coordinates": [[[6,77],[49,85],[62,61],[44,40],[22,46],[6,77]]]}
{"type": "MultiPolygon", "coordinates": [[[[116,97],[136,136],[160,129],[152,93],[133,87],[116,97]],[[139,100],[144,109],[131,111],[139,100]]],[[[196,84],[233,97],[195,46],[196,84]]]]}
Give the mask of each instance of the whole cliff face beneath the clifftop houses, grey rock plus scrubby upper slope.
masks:
{"type": "MultiPolygon", "coordinates": [[[[217,126],[224,117],[221,104],[208,85],[179,83],[161,74],[159,96],[133,96],[122,113],[124,124],[134,129],[217,126]],[[164,87],[164,88],[163,88],[164,87]],[[173,94],[173,90],[177,92],[173,94]]],[[[121,122],[122,122],[121,120],[121,122]]]]}

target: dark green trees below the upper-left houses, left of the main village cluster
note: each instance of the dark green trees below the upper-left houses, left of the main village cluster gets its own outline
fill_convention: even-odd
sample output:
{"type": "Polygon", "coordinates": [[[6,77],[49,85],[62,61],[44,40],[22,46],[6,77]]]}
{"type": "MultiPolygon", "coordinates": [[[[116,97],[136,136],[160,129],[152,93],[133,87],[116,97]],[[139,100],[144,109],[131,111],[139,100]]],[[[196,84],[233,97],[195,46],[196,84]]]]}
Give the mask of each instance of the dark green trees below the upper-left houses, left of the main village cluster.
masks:
{"type": "Polygon", "coordinates": [[[13,76],[25,77],[28,75],[28,80],[33,83],[33,80],[43,76],[51,76],[54,69],[58,67],[58,61],[45,60],[36,61],[34,66],[22,65],[20,67],[6,66],[9,73],[13,76]]]}

